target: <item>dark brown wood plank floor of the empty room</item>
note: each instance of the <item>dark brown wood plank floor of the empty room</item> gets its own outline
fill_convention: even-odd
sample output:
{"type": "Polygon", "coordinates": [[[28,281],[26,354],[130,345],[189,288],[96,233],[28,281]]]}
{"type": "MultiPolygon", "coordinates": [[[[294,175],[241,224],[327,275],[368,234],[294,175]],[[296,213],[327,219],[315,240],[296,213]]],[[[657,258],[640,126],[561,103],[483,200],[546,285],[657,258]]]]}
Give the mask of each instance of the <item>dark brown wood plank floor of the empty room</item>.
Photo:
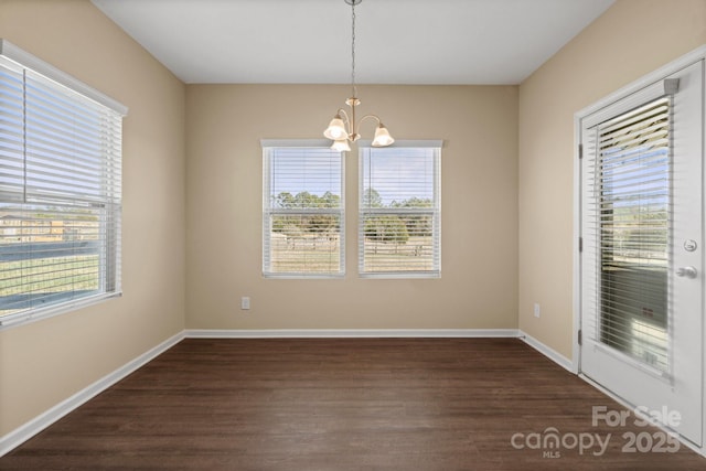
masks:
{"type": "Polygon", "coordinates": [[[0,469],[706,469],[683,446],[659,452],[661,432],[634,419],[593,426],[601,405],[622,410],[515,339],[191,339],[0,469]],[[558,448],[542,443],[552,427],[558,448]],[[630,433],[654,437],[650,451],[627,452],[630,433]],[[589,435],[605,453],[574,447],[589,435]]]}

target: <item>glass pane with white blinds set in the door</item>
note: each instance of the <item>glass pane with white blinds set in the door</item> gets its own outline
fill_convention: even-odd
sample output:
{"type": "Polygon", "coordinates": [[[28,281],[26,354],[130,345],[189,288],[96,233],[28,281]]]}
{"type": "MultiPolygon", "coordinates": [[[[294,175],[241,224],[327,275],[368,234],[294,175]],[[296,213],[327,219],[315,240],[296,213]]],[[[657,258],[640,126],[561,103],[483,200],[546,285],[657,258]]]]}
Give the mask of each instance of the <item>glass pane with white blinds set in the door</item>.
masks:
{"type": "MultiPolygon", "coordinates": [[[[668,367],[670,97],[588,130],[595,340],[668,367]]],[[[590,254],[589,254],[590,255],[590,254]]]]}

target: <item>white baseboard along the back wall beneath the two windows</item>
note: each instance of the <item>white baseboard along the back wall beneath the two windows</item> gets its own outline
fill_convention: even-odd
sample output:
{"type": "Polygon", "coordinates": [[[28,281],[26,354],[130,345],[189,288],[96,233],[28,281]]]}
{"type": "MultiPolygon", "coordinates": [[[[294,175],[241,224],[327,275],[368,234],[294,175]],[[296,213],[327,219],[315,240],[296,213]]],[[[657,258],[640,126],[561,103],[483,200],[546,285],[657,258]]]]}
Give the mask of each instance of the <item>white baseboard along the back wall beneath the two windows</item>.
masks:
{"type": "Polygon", "coordinates": [[[272,329],[184,331],[188,339],[517,338],[516,329],[272,329]]]}

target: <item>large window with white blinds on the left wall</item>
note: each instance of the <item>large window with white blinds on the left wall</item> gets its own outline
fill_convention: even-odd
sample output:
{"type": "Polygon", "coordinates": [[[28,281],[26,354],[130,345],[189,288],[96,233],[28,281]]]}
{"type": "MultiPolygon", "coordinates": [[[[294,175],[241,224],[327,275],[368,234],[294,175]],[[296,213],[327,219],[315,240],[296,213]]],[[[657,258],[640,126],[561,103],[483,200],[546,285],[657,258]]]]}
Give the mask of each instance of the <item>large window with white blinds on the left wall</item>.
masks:
{"type": "Polygon", "coordinates": [[[7,41],[0,47],[4,325],[120,293],[127,109],[7,41]]]}

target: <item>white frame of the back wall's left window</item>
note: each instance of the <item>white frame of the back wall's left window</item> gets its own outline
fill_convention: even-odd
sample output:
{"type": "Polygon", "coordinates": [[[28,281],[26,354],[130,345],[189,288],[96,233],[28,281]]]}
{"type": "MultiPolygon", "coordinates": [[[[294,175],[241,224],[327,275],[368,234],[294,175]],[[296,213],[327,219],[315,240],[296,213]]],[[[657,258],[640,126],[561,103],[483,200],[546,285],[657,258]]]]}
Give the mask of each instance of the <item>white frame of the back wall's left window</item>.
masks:
{"type": "Polygon", "coordinates": [[[266,279],[341,279],[345,277],[345,152],[331,150],[331,142],[325,139],[261,139],[263,149],[263,259],[261,272],[266,279]],[[317,208],[276,208],[270,204],[271,188],[271,152],[276,149],[317,149],[340,156],[340,204],[339,207],[317,208]],[[339,216],[339,270],[338,271],[275,271],[271,266],[271,216],[339,216]]]}

